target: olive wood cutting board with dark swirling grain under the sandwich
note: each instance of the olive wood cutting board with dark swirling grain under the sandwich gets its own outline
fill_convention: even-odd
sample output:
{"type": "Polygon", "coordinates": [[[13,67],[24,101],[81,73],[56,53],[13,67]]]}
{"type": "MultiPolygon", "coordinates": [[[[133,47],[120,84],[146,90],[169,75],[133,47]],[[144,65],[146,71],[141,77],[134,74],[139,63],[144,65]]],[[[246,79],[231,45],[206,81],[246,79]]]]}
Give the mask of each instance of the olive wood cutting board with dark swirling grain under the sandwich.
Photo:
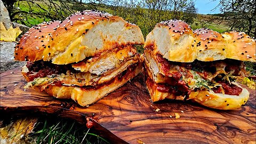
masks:
{"type": "Polygon", "coordinates": [[[113,143],[255,143],[255,91],[251,89],[249,101],[237,110],[215,110],[189,101],[152,103],[140,74],[94,105],[81,107],[37,90],[24,91],[25,83],[20,69],[1,74],[1,113],[54,114],[82,124],[86,117],[96,116],[94,128],[113,143]]]}

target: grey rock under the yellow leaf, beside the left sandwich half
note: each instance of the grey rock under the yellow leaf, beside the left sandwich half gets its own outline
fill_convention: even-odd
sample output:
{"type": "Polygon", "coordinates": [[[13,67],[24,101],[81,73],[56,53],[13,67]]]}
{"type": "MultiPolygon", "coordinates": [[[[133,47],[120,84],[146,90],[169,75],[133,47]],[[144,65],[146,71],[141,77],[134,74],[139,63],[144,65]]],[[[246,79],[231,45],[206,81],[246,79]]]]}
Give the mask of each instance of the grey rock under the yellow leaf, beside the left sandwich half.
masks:
{"type": "Polygon", "coordinates": [[[14,60],[14,42],[0,42],[1,45],[1,71],[3,73],[6,70],[13,69],[15,67],[22,67],[26,62],[14,60]]]}

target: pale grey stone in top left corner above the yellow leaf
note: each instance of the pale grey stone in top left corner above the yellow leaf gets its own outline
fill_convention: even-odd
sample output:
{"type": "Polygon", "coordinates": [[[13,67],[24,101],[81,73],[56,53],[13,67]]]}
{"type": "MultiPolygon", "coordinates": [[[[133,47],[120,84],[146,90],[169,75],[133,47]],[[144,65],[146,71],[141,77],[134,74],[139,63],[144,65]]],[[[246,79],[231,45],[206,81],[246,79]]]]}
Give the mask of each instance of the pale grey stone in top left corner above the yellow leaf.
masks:
{"type": "Polygon", "coordinates": [[[4,23],[4,26],[7,29],[9,29],[12,26],[12,22],[10,20],[9,17],[9,12],[7,11],[6,7],[4,6],[4,3],[2,2],[2,0],[0,0],[1,2],[1,19],[0,21],[4,23]]]}

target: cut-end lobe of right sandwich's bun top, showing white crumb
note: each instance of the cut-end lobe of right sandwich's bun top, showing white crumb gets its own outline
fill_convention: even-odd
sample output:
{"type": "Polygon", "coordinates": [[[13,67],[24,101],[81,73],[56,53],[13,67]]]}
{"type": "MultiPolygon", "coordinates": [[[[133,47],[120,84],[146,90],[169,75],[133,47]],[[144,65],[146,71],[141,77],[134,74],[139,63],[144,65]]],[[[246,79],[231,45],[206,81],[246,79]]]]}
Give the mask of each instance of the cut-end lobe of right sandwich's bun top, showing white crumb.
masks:
{"type": "Polygon", "coordinates": [[[157,23],[147,35],[144,47],[170,61],[193,62],[196,58],[193,30],[181,20],[157,23]]]}

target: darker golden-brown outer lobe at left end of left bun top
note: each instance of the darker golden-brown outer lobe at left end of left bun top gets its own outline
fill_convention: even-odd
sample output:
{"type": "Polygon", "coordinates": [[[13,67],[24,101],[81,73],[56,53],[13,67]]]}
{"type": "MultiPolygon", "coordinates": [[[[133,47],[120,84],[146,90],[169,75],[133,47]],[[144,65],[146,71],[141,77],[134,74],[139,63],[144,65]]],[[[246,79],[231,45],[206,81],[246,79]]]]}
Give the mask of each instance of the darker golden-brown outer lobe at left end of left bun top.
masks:
{"type": "Polygon", "coordinates": [[[37,61],[42,59],[44,49],[49,43],[54,29],[61,21],[43,22],[30,28],[16,44],[14,58],[19,61],[37,61]]]}

